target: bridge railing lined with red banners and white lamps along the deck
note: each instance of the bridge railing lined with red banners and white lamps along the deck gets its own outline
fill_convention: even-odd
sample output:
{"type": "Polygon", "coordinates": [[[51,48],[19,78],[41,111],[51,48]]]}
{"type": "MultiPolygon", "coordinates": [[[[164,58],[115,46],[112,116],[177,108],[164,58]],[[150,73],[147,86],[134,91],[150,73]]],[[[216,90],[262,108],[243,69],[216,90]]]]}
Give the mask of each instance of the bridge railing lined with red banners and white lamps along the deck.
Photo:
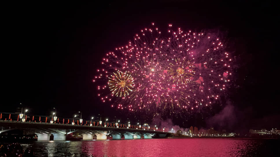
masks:
{"type": "Polygon", "coordinates": [[[92,126],[92,127],[111,127],[111,128],[126,128],[126,129],[141,129],[141,130],[148,130],[148,131],[162,131],[164,132],[164,129],[162,128],[156,128],[156,127],[142,127],[139,125],[130,125],[128,124],[118,124],[117,126],[115,123],[108,123],[103,122],[102,124],[99,124],[99,122],[92,122],[90,120],[83,120],[80,122],[80,119],[78,118],[61,118],[57,117],[57,119],[54,119],[54,116],[39,116],[39,115],[24,115],[22,118],[20,117],[20,114],[18,113],[0,113],[0,121],[13,121],[13,122],[22,122],[22,123],[48,123],[48,124],[67,124],[67,125],[78,125],[78,126],[92,126]]]}

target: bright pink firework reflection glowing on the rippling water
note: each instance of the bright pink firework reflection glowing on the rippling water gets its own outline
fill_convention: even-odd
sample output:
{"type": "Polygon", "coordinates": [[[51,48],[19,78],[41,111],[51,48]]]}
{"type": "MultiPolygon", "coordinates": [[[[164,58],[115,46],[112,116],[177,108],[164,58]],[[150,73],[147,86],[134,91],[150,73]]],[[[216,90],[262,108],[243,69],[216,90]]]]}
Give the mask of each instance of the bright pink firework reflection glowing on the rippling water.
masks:
{"type": "MultiPolygon", "coordinates": [[[[82,141],[87,156],[246,156],[254,141],[244,139],[138,139],[82,141]]],[[[255,148],[255,147],[253,147],[255,148]]],[[[256,148],[255,148],[256,149],[256,148]]],[[[74,153],[74,152],[73,152],[74,153]]]]}

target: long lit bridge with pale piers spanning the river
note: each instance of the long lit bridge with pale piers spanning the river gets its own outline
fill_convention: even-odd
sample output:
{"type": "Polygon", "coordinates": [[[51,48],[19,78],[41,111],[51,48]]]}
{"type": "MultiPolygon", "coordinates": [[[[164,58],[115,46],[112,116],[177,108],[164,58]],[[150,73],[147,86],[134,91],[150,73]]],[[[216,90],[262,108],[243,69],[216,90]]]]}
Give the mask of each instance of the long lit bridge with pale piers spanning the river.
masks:
{"type": "MultiPolygon", "coordinates": [[[[15,115],[13,116],[15,117],[15,115]]],[[[91,121],[85,121],[85,124],[83,124],[82,119],[77,120],[77,123],[74,120],[69,123],[69,119],[67,119],[65,124],[65,119],[60,123],[59,119],[54,119],[54,117],[49,122],[47,118],[44,118],[46,120],[42,122],[40,121],[41,116],[39,116],[39,121],[36,122],[34,117],[38,118],[38,116],[30,116],[29,118],[26,116],[19,119],[18,115],[17,120],[13,121],[11,114],[9,114],[9,118],[4,119],[1,113],[0,134],[15,129],[32,130],[37,135],[38,141],[49,141],[51,135],[54,136],[54,141],[65,141],[66,136],[73,132],[82,134],[83,140],[93,140],[93,137],[96,137],[96,140],[106,140],[108,137],[110,139],[152,139],[154,136],[165,137],[167,134],[170,134],[164,132],[164,128],[151,128],[150,126],[143,127],[141,125],[118,123],[104,123],[102,125],[103,123],[97,122],[95,124],[95,122],[91,123],[91,121]],[[28,119],[30,120],[28,121],[28,119]]]]}

